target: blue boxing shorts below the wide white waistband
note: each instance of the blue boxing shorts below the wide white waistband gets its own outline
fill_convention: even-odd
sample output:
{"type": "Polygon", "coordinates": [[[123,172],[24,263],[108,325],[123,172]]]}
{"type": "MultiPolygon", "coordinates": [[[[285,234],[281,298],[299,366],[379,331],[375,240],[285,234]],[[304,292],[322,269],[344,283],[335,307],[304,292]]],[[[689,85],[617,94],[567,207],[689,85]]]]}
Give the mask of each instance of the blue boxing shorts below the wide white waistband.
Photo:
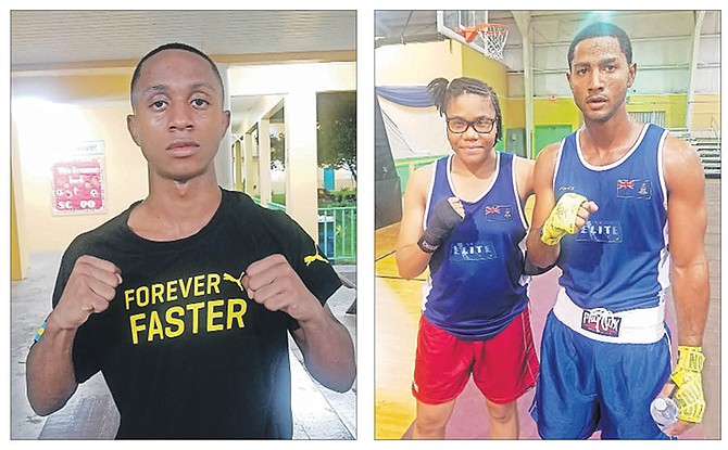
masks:
{"type": "Polygon", "coordinates": [[[586,337],[553,310],[541,339],[541,370],[531,415],[543,439],[669,439],[650,402],[670,374],[670,338],[615,344],[586,337]]]}

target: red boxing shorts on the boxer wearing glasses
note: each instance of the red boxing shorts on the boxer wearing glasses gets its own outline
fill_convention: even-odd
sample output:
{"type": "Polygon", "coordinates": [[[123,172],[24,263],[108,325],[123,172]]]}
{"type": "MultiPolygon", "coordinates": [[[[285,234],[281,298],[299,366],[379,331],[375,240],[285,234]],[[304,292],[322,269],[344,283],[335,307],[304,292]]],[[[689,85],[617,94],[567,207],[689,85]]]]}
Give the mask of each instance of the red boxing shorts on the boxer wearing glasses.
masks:
{"type": "Polygon", "coordinates": [[[516,400],[536,385],[539,362],[528,308],[488,340],[464,340],[419,319],[412,395],[428,404],[455,399],[473,380],[493,403],[516,400]]]}

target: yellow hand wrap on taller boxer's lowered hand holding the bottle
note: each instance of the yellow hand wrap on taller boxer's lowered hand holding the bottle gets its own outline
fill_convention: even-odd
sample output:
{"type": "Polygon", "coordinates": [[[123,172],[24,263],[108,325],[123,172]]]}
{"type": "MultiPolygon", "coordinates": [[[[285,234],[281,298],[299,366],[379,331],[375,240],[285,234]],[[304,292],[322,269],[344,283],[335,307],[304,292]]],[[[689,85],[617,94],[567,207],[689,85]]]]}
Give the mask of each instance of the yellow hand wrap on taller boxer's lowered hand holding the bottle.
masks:
{"type": "Polygon", "coordinates": [[[670,375],[677,386],[673,398],[680,410],[680,420],[700,423],[705,412],[701,375],[705,357],[701,347],[678,346],[677,351],[677,363],[670,375]]]}

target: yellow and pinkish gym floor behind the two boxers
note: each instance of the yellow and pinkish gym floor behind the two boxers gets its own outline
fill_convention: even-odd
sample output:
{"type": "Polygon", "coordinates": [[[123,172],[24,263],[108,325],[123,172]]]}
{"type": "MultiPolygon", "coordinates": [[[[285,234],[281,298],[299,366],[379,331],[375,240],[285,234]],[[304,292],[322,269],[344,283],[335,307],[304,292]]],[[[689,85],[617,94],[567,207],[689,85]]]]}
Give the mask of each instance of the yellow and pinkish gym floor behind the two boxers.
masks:
{"type": "MultiPolygon", "coordinates": [[[[708,180],[705,195],[708,210],[705,248],[711,274],[711,310],[703,343],[706,356],[703,370],[706,411],[703,423],[683,435],[683,439],[720,439],[720,182],[708,180]]],[[[526,210],[530,217],[530,202],[526,210]]],[[[415,400],[410,393],[410,385],[425,275],[412,281],[399,278],[394,255],[398,229],[399,223],[394,223],[375,233],[376,439],[409,439],[415,419],[415,400]]],[[[557,277],[557,269],[552,270],[534,278],[530,285],[531,323],[537,348],[545,314],[553,306],[557,277]]],[[[668,297],[667,321],[676,335],[674,317],[671,297],[668,297]]],[[[535,423],[528,415],[532,396],[531,390],[518,400],[522,439],[539,439],[535,423]]],[[[488,423],[485,402],[470,381],[455,403],[445,437],[487,439],[488,423]]]]}

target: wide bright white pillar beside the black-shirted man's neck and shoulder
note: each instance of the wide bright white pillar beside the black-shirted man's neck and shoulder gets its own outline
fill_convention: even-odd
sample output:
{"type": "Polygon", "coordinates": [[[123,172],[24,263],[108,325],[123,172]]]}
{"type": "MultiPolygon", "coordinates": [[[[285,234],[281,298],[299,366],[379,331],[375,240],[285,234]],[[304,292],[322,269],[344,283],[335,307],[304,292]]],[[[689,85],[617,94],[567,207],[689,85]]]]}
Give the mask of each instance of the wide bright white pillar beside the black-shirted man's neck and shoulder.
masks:
{"type": "Polygon", "coordinates": [[[316,153],[316,92],[301,89],[285,100],[286,211],[318,239],[318,156],[316,153]]]}

